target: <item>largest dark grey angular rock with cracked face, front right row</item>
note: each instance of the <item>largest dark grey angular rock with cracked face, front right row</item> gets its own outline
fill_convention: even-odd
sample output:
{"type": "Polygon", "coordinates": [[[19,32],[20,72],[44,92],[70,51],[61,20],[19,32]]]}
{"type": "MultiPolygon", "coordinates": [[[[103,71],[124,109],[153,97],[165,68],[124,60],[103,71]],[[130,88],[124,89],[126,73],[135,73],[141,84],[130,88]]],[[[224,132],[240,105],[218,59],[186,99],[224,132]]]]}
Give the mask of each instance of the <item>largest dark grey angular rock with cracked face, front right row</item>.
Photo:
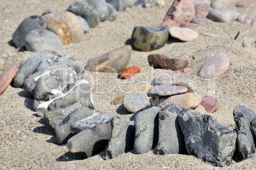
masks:
{"type": "Polygon", "coordinates": [[[229,166],[236,145],[236,132],[210,115],[189,108],[181,111],[178,122],[187,152],[214,166],[229,166]]]}

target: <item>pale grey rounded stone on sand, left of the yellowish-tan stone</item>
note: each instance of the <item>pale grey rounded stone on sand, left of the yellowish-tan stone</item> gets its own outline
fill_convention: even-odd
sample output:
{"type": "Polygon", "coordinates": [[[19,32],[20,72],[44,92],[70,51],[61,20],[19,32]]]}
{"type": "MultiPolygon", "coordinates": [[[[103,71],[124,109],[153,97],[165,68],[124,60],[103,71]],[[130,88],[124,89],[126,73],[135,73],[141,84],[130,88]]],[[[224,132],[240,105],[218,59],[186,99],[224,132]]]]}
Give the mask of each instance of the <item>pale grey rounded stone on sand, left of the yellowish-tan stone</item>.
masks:
{"type": "Polygon", "coordinates": [[[124,97],[124,107],[130,113],[135,113],[148,104],[148,97],[145,94],[134,92],[124,97]]]}

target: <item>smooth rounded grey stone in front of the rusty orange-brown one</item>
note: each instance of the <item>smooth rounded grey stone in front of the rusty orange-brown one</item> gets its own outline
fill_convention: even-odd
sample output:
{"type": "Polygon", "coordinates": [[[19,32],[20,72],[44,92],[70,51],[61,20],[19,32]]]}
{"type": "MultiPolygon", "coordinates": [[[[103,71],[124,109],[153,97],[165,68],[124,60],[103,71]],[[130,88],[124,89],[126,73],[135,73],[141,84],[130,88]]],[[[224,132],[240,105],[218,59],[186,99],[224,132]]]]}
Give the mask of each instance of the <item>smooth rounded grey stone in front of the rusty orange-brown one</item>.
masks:
{"type": "Polygon", "coordinates": [[[31,52],[42,50],[60,50],[62,42],[52,31],[46,29],[34,29],[25,36],[25,48],[31,52]]]}

